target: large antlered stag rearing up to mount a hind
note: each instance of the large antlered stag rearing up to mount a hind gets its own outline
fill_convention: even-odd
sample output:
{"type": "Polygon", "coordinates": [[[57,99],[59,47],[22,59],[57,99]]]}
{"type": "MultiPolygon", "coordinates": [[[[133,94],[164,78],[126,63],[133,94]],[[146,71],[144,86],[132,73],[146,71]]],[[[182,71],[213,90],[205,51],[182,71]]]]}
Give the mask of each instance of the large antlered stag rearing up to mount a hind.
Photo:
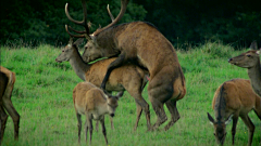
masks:
{"type": "Polygon", "coordinates": [[[124,15],[127,3],[128,0],[121,0],[121,12],[116,18],[112,17],[108,11],[112,23],[97,29],[94,34],[89,32],[87,25],[85,0],[82,0],[83,22],[75,21],[70,16],[67,4],[65,5],[65,14],[71,22],[85,27],[84,31],[70,27],[71,30],[79,34],[72,34],[74,37],[88,40],[83,54],[84,61],[91,62],[100,57],[117,56],[108,66],[101,89],[105,89],[112,70],[126,63],[148,69],[150,75],[149,99],[158,117],[152,130],[158,129],[167,120],[163,109],[164,104],[172,115],[171,121],[164,127],[164,130],[169,130],[181,117],[176,102],[186,94],[185,77],[173,45],[153,25],[145,22],[115,25],[124,15]]]}

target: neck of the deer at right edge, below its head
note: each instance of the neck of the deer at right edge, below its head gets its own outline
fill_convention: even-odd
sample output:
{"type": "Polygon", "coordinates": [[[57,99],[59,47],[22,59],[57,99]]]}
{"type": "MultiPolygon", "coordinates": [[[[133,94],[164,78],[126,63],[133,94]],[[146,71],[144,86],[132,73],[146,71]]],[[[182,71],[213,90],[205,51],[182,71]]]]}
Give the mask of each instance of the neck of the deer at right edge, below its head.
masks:
{"type": "Polygon", "coordinates": [[[248,68],[248,76],[250,78],[250,82],[253,91],[261,96],[261,66],[260,59],[254,67],[248,68]]]}

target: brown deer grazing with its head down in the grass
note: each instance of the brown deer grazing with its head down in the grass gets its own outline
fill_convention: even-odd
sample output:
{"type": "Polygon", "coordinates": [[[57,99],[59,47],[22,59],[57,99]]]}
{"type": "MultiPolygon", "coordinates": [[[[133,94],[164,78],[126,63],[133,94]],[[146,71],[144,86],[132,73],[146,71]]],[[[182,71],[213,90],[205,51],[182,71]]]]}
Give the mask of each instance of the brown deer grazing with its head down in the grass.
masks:
{"type": "Polygon", "coordinates": [[[214,135],[217,144],[223,145],[226,136],[226,124],[233,119],[232,143],[234,145],[238,117],[248,127],[248,145],[252,143],[254,125],[248,112],[252,109],[261,120],[261,98],[252,91],[249,80],[233,79],[222,83],[214,93],[212,108],[214,120],[208,112],[210,122],[214,125],[214,135]]]}

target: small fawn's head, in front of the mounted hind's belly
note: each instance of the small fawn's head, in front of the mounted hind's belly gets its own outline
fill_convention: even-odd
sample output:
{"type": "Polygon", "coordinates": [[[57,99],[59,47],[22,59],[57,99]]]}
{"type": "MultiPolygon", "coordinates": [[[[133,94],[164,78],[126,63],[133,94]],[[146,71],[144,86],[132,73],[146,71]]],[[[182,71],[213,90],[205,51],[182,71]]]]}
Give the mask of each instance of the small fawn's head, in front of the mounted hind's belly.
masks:
{"type": "Polygon", "coordinates": [[[115,109],[117,107],[117,101],[120,97],[122,97],[122,95],[123,95],[123,92],[119,92],[117,95],[115,96],[107,94],[108,111],[111,117],[114,117],[115,109]]]}

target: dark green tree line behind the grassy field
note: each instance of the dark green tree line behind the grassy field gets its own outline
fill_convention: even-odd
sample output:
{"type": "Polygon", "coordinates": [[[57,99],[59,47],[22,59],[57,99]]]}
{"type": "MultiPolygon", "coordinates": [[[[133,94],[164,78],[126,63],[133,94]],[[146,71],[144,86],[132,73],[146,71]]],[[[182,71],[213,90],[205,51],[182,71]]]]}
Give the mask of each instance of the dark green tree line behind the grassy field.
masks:
{"type": "MultiPolygon", "coordinates": [[[[65,44],[70,24],[64,5],[75,19],[83,19],[80,0],[8,0],[0,5],[1,44],[65,44]]],[[[91,31],[111,22],[105,6],[116,16],[120,0],[87,0],[91,31]]],[[[153,24],[174,44],[222,41],[234,47],[261,41],[261,0],[130,0],[121,23],[146,21],[153,24]]]]}

